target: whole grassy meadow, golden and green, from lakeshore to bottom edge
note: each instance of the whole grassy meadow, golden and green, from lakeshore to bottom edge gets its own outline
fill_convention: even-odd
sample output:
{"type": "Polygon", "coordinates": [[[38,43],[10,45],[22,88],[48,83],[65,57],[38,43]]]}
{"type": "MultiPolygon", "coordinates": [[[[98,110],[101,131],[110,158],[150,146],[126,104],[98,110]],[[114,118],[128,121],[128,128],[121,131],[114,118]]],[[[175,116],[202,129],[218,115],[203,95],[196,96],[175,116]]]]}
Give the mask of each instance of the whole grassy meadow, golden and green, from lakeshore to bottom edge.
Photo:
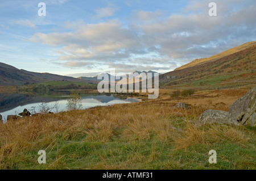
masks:
{"type": "Polygon", "coordinates": [[[256,169],[255,128],[193,125],[204,110],[227,110],[246,91],[204,90],[171,98],[171,90],[160,90],[159,99],[148,102],[9,121],[0,124],[0,168],[256,169]],[[192,109],[177,110],[177,102],[192,109]],[[42,149],[47,163],[39,165],[42,149]],[[208,162],[211,149],[217,164],[208,162]]]}

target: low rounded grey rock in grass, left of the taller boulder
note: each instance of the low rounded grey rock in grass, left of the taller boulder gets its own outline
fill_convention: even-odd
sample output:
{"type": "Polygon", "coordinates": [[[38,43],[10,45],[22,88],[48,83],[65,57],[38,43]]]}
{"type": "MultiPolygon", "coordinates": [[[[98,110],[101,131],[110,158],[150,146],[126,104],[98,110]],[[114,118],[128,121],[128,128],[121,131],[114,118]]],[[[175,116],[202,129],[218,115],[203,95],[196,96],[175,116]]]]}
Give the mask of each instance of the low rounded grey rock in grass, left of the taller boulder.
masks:
{"type": "Polygon", "coordinates": [[[207,123],[218,123],[218,124],[233,124],[239,125],[239,123],[226,111],[218,110],[207,110],[204,111],[197,119],[197,123],[207,124],[207,123]]]}

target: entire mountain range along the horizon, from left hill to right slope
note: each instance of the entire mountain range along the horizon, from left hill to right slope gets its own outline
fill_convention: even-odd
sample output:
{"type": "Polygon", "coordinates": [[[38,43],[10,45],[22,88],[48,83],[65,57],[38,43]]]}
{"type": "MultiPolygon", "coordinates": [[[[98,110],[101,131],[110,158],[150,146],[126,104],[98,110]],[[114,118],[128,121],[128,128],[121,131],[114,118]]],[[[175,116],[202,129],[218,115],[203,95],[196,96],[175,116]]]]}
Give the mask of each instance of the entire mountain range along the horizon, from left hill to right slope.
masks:
{"type": "MultiPolygon", "coordinates": [[[[155,73],[134,71],[133,73],[155,73]]],[[[98,74],[100,75],[100,74],[98,74]]],[[[0,86],[24,85],[46,81],[98,83],[95,77],[68,77],[50,73],[35,73],[0,62],[0,86]]],[[[128,77],[129,74],[126,74],[128,77]]],[[[154,74],[153,74],[154,75],[154,74]]],[[[111,76],[108,74],[109,79],[111,76]]],[[[115,79],[119,81],[119,79],[115,79]]],[[[256,86],[256,41],[251,41],[208,58],[193,60],[180,68],[159,74],[160,87],[251,87],[256,86]]]]}

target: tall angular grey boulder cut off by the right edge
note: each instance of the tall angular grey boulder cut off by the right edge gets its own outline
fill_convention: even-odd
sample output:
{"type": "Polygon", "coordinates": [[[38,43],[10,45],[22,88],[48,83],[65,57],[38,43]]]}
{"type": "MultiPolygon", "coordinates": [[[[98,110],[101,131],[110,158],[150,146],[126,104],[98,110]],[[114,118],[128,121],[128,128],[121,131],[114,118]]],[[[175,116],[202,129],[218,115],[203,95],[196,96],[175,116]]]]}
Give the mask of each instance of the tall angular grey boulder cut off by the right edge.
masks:
{"type": "Polygon", "coordinates": [[[229,113],[243,125],[255,125],[256,87],[231,104],[229,113]]]}

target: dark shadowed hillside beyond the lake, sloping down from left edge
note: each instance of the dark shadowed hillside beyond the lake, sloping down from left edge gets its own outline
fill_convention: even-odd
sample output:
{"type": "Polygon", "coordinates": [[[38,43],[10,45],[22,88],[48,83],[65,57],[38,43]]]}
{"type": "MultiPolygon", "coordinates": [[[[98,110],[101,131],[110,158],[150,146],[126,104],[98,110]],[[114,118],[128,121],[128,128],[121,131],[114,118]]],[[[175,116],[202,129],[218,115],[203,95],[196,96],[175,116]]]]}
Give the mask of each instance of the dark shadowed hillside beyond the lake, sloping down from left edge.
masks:
{"type": "Polygon", "coordinates": [[[35,73],[23,69],[17,69],[14,66],[3,64],[0,62],[0,86],[16,86],[24,85],[26,83],[37,83],[46,81],[72,81],[85,82],[92,81],[77,79],[68,76],[49,74],[49,73],[35,73]]]}

